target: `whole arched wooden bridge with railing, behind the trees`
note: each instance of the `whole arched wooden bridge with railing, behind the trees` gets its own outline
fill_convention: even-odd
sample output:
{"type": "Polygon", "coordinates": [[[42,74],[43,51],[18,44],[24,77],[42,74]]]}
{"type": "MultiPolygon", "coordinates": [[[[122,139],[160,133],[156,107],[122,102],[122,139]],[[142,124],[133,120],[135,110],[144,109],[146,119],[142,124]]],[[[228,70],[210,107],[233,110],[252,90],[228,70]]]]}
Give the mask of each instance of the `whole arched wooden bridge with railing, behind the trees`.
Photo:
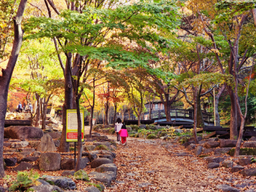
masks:
{"type": "MultiPolygon", "coordinates": [[[[143,120],[143,124],[150,124],[152,121],[157,124],[169,123],[177,125],[191,125],[194,123],[194,110],[170,109],[170,115],[171,122],[166,122],[165,110],[154,110],[151,111],[151,121],[149,120],[149,112],[144,113],[141,116],[141,120],[143,120]]],[[[121,115],[117,115],[117,117],[121,118],[121,115]]],[[[129,114],[124,114],[124,119],[127,121],[127,123],[136,123],[136,120],[138,121],[138,117],[133,114],[130,115],[130,118],[129,114]]],[[[214,125],[213,115],[203,113],[203,119],[205,125],[214,125]]]]}

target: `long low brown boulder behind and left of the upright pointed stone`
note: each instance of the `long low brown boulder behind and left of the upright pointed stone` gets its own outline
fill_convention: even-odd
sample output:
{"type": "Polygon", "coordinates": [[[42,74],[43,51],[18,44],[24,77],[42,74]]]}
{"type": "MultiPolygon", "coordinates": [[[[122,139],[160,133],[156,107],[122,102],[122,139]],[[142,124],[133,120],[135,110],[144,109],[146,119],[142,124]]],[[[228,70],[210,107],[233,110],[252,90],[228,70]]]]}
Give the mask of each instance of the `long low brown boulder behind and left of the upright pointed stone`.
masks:
{"type": "Polygon", "coordinates": [[[10,126],[4,128],[4,137],[12,139],[41,139],[42,129],[33,126],[10,126]]]}

